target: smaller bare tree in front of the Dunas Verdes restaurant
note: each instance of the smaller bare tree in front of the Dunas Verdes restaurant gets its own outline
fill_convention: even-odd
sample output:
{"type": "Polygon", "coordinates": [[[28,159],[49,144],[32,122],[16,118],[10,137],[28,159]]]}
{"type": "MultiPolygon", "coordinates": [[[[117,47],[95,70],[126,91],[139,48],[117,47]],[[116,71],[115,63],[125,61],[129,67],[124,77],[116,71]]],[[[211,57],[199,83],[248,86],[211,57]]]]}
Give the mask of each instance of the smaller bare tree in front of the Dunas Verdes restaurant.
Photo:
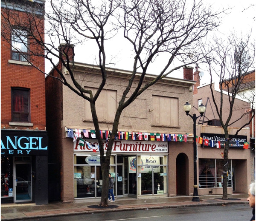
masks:
{"type": "MultiPolygon", "coordinates": [[[[205,50],[205,48],[204,48],[205,50]]],[[[206,51],[209,51],[206,50],[206,51]]],[[[250,35],[241,38],[230,34],[228,38],[215,38],[210,47],[211,56],[207,56],[207,66],[210,74],[210,91],[218,118],[225,135],[223,153],[223,199],[227,199],[228,152],[230,140],[238,135],[242,128],[250,125],[255,115],[255,79],[248,77],[248,70],[253,68],[255,57],[255,43],[250,35]],[[215,93],[213,78],[218,76],[220,93],[215,93]],[[244,91],[247,91],[246,95],[244,91]],[[224,102],[228,96],[228,103],[224,102]],[[236,99],[243,98],[248,102],[247,107],[238,107],[236,99]],[[244,114],[235,118],[233,113],[238,108],[244,114]],[[224,114],[227,113],[227,116],[224,114]],[[238,121],[244,124],[233,134],[229,134],[229,127],[238,121]]]]}

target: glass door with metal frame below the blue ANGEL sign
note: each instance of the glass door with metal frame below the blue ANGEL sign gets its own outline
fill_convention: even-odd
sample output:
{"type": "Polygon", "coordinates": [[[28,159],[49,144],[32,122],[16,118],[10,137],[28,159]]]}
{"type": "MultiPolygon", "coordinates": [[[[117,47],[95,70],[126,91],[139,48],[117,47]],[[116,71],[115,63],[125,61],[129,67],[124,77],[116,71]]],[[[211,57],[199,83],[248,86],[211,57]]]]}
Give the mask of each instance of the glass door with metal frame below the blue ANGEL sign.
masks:
{"type": "Polygon", "coordinates": [[[31,163],[15,162],[14,202],[32,201],[31,163]]]}

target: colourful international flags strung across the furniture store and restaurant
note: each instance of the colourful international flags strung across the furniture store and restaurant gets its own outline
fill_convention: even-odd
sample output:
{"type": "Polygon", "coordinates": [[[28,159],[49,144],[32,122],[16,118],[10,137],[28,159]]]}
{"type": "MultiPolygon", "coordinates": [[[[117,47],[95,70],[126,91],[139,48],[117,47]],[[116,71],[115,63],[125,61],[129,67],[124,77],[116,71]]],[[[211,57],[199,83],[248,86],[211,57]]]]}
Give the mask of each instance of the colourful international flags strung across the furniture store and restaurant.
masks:
{"type": "MultiPolygon", "coordinates": [[[[94,152],[98,150],[99,147],[96,147],[89,142],[86,142],[82,138],[96,138],[95,130],[88,129],[71,129],[66,128],[67,137],[73,138],[73,142],[76,142],[79,138],[79,142],[76,145],[83,146],[85,143],[92,148],[94,152]],[[84,142],[84,144],[83,144],[84,142]]],[[[101,138],[108,141],[111,131],[109,130],[100,130],[101,138]],[[103,135],[104,134],[104,135],[103,135]]],[[[167,133],[147,133],[147,132],[123,132],[118,131],[115,135],[115,140],[145,140],[145,141],[174,141],[174,142],[187,142],[189,134],[167,134],[167,133]]],[[[204,139],[200,136],[196,136],[196,142],[208,147],[221,148],[221,142],[215,140],[204,139]]],[[[239,146],[239,142],[236,143],[239,146]]],[[[244,142],[243,148],[248,149],[249,142],[244,142]]]]}

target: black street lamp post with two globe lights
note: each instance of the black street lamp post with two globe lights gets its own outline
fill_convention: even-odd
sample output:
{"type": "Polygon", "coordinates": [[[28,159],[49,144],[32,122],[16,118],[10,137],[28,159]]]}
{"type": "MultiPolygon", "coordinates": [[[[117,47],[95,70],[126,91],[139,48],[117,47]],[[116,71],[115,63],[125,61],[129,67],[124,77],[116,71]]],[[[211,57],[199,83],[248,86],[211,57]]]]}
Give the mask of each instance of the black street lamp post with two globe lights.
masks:
{"type": "Polygon", "coordinates": [[[197,160],[197,144],[196,144],[196,120],[198,117],[203,116],[205,112],[205,106],[201,103],[198,107],[198,112],[200,113],[199,116],[196,116],[194,113],[193,116],[189,114],[189,111],[191,111],[191,105],[189,102],[186,102],[186,104],[183,106],[184,111],[186,112],[186,115],[190,116],[193,119],[193,130],[194,130],[194,137],[193,137],[193,147],[194,147],[194,193],[192,197],[192,201],[198,202],[199,200],[199,195],[198,195],[198,184],[197,184],[197,165],[196,165],[196,160],[197,160]]]}

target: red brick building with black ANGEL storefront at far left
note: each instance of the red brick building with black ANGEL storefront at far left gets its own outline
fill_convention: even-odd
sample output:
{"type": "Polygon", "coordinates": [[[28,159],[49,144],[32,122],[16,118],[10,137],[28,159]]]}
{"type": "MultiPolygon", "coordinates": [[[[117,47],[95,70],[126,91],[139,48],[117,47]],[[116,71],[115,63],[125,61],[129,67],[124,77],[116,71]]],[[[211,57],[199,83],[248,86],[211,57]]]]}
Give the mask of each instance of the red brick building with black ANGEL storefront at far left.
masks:
{"type": "MultiPolygon", "coordinates": [[[[44,1],[1,1],[1,203],[48,204],[45,79],[28,62],[27,48],[38,49],[23,29],[28,6],[44,1]]],[[[44,30],[44,15],[35,20],[44,30]]],[[[44,68],[43,57],[33,62],[44,68]]]]}

